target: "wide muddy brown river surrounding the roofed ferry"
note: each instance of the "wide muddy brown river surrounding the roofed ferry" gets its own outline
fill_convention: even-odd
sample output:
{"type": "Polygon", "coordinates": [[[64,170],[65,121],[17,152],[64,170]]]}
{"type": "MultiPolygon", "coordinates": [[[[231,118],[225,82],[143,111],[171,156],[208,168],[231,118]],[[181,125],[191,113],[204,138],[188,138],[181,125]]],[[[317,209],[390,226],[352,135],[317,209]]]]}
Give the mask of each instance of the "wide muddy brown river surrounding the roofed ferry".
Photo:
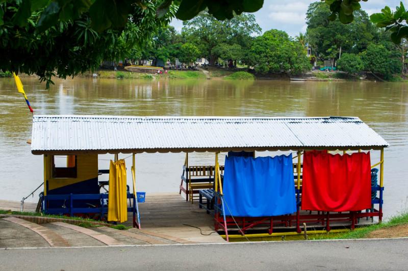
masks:
{"type": "MultiPolygon", "coordinates": [[[[391,145],[385,151],[386,218],[408,209],[406,83],[77,78],[56,79],[47,91],[36,78],[21,80],[35,114],[357,116],[391,145]]],[[[0,199],[17,201],[42,182],[42,156],[31,154],[27,144],[32,117],[12,78],[0,79],[0,97],[0,199]]],[[[138,191],[178,191],[184,154],[143,153],[136,157],[138,191]]],[[[99,158],[99,169],[107,169],[113,155],[99,158]]],[[[372,153],[372,164],[377,161],[378,151],[372,153]]],[[[189,156],[190,165],[213,162],[211,153],[189,156]]],[[[27,201],[38,201],[38,193],[27,201]]]]}

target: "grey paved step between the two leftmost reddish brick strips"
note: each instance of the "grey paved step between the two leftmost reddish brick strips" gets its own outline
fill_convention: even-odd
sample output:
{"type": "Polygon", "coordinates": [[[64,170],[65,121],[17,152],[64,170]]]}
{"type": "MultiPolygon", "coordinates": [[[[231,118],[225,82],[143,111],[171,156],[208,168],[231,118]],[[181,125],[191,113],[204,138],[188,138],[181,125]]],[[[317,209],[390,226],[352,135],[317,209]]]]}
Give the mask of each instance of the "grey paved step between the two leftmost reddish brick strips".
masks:
{"type": "Polygon", "coordinates": [[[48,228],[62,237],[64,237],[65,240],[69,243],[69,246],[71,247],[97,247],[97,246],[106,246],[105,243],[98,241],[97,239],[72,230],[67,227],[61,227],[59,225],[53,224],[53,223],[45,223],[41,224],[43,227],[48,228]]]}

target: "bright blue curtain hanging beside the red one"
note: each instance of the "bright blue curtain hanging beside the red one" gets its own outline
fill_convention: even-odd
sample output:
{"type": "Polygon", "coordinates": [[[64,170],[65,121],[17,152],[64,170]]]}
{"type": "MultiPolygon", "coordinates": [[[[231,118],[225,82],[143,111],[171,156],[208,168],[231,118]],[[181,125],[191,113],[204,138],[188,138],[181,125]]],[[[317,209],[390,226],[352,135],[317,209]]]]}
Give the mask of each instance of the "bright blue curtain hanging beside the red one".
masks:
{"type": "Polygon", "coordinates": [[[225,157],[225,214],[273,216],[296,211],[292,154],[225,157]]]}

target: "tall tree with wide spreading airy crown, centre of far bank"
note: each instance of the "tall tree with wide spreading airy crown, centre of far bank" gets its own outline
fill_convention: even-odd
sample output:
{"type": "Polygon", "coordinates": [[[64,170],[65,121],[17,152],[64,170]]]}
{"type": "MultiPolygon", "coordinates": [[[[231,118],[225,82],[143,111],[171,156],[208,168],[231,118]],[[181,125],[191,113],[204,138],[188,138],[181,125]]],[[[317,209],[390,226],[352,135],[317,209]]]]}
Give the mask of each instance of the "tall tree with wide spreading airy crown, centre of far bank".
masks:
{"type": "Polygon", "coordinates": [[[194,19],[183,23],[182,35],[195,44],[202,57],[209,59],[214,65],[220,57],[220,44],[238,44],[245,51],[249,49],[252,34],[261,33],[252,14],[241,14],[231,20],[219,21],[206,12],[200,13],[194,19]]]}

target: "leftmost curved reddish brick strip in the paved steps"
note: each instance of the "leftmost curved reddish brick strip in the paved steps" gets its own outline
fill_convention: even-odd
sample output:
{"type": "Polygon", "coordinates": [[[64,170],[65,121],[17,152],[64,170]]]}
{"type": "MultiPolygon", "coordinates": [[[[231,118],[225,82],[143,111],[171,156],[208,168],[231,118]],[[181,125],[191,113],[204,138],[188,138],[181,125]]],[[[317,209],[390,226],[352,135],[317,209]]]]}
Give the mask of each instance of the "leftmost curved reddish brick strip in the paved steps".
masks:
{"type": "Polygon", "coordinates": [[[14,218],[13,216],[3,218],[3,220],[18,224],[29,230],[32,230],[33,232],[40,235],[48,243],[50,247],[69,247],[69,243],[61,235],[41,225],[25,221],[22,219],[14,218]]]}

